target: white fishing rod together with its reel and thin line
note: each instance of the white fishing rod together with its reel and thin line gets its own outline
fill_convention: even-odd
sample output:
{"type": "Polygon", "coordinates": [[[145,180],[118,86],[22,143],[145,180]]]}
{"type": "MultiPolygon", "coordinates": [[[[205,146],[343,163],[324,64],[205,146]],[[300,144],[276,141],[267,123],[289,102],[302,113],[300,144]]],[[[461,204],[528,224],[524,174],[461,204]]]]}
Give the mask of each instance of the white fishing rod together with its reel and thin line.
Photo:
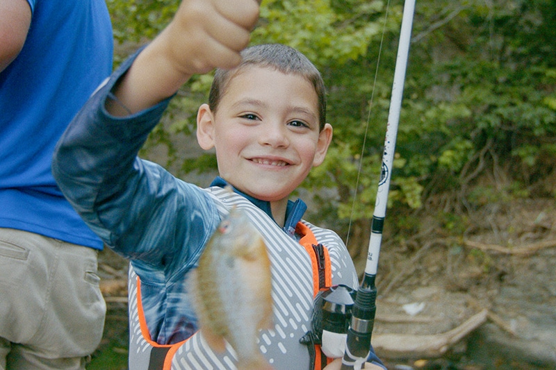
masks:
{"type": "MultiPolygon", "coordinates": [[[[400,31],[400,42],[398,44],[398,56],[395,62],[388,123],[386,124],[386,137],[384,139],[384,149],[382,150],[381,176],[377,188],[377,199],[375,200],[373,221],[370,227],[370,239],[366,258],[366,267],[365,271],[363,271],[363,279],[361,280],[361,284],[359,285],[357,291],[342,285],[329,287],[329,289],[323,291],[322,296],[320,296],[322,300],[317,299],[315,302],[313,318],[311,319],[312,329],[307,333],[307,335],[309,335],[309,339],[314,339],[315,342],[313,342],[313,340],[305,341],[304,339],[307,335],[302,338],[303,341],[300,341],[304,344],[313,344],[316,343],[316,339],[318,339],[320,342],[319,344],[321,344],[322,353],[325,353],[325,355],[329,358],[336,358],[338,357],[338,353],[341,354],[341,352],[343,352],[341,370],[361,370],[361,367],[370,355],[370,339],[373,334],[373,326],[375,323],[375,302],[377,298],[375,277],[377,274],[380,242],[382,240],[382,226],[384,225],[386,204],[388,203],[387,199],[391,174],[390,169],[393,163],[395,140],[398,133],[398,121],[400,118],[407,57],[409,56],[409,37],[411,37],[411,23],[413,22],[414,6],[415,0],[405,1],[402,15],[402,29],[400,31]],[[341,348],[341,344],[344,344],[343,348],[341,348]]],[[[373,110],[373,101],[378,80],[378,69],[384,45],[384,35],[386,34],[386,23],[389,17],[389,8],[390,0],[386,2],[386,9],[384,12],[382,36],[379,44],[377,66],[371,90],[368,117],[365,124],[365,133],[363,135],[363,145],[361,147],[361,155],[359,156],[359,166],[350,223],[345,242],[346,246],[349,242],[354,218],[355,202],[357,201],[357,188],[359,187],[359,181],[361,179],[361,169],[363,167],[368,127],[370,124],[371,112],[373,110]]],[[[309,348],[311,348],[311,346],[309,346],[309,348]]],[[[309,352],[311,353],[311,350],[309,350],[309,352]]]]}

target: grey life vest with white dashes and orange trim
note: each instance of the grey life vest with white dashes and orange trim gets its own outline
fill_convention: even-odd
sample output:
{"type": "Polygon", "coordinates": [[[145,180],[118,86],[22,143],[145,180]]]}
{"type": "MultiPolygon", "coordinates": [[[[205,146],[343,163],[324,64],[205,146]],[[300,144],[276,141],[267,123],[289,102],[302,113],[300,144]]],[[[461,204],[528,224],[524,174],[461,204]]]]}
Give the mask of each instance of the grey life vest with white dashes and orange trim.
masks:
{"type": "MultiPolygon", "coordinates": [[[[215,197],[220,214],[232,206],[245,210],[265,239],[272,273],[275,326],[261,330],[259,349],[276,370],[308,369],[309,352],[300,339],[311,330],[313,298],[320,289],[334,284],[357,287],[358,280],[350,255],[332,230],[306,221],[297,224],[303,237],[295,242],[268,215],[250,201],[220,187],[208,192],[215,197]],[[326,245],[326,247],[324,247],[326,245]]],[[[129,369],[199,370],[236,369],[236,353],[227,345],[215,353],[197,332],[183,342],[157,344],[152,341],[142,311],[140,278],[129,265],[129,369]]],[[[326,365],[316,348],[315,369],[326,365]]]]}

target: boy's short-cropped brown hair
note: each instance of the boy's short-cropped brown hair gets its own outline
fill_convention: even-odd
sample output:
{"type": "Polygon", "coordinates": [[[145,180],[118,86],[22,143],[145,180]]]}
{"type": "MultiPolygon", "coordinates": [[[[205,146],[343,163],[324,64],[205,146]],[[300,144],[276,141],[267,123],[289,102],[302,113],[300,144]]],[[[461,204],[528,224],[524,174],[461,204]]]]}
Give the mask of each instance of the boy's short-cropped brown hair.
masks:
{"type": "Polygon", "coordinates": [[[248,47],[241,52],[243,60],[234,69],[216,69],[211,92],[208,95],[208,106],[213,112],[226,91],[227,83],[248,67],[269,67],[284,74],[297,74],[309,81],[315,88],[318,99],[318,115],[320,130],[326,123],[326,90],[325,83],[318,69],[300,51],[282,44],[262,44],[248,47]]]}

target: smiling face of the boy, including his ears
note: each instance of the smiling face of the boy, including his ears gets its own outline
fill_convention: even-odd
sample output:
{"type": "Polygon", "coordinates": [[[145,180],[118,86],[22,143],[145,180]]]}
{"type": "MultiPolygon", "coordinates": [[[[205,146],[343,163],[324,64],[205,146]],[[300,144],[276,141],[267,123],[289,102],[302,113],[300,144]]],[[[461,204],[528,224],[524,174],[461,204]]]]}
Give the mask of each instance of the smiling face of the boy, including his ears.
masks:
{"type": "Polygon", "coordinates": [[[302,76],[249,67],[229,81],[215,114],[199,108],[197,140],[215,147],[220,176],[236,189],[279,201],[322,163],[332,126],[320,131],[317,94],[302,76]]]}

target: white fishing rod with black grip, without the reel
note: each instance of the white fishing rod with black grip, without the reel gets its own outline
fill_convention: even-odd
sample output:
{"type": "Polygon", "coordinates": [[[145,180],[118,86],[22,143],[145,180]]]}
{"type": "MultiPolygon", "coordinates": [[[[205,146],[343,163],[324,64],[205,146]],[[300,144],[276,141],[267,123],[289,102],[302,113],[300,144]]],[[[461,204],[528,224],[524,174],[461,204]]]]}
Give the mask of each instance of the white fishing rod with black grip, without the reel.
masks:
{"type": "Polygon", "coordinates": [[[398,44],[398,56],[395,62],[388,125],[386,126],[386,139],[384,140],[384,152],[382,153],[382,171],[377,190],[377,199],[375,201],[373,223],[371,224],[367,262],[363,280],[361,280],[361,285],[357,290],[357,296],[352,308],[352,319],[350,328],[347,331],[345,353],[342,359],[342,370],[360,370],[370,353],[370,337],[373,334],[373,326],[375,323],[375,301],[377,298],[375,278],[377,276],[380,244],[382,242],[382,228],[386,217],[386,205],[388,204],[395,141],[398,136],[398,123],[400,121],[400,110],[402,108],[402,96],[407,59],[409,57],[409,42],[411,41],[411,27],[413,24],[414,11],[415,0],[405,1],[400,30],[400,42],[398,44]]]}

